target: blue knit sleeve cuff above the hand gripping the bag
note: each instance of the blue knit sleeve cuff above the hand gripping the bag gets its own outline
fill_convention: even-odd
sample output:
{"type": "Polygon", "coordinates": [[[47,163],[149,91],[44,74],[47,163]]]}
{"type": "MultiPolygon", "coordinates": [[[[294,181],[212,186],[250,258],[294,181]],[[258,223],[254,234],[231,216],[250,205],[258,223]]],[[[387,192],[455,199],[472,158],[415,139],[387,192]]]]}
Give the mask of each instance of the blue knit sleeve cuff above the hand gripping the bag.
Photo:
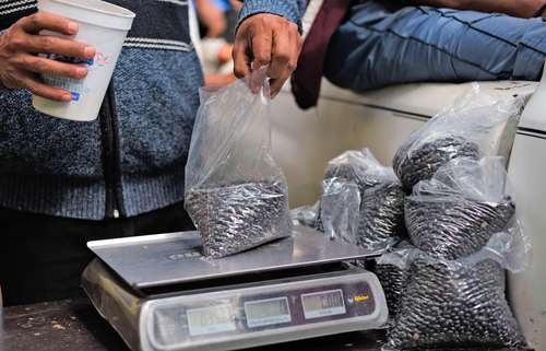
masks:
{"type": "Polygon", "coordinates": [[[272,13],[296,23],[301,32],[301,0],[245,0],[239,13],[239,24],[257,13],[272,13]]]}

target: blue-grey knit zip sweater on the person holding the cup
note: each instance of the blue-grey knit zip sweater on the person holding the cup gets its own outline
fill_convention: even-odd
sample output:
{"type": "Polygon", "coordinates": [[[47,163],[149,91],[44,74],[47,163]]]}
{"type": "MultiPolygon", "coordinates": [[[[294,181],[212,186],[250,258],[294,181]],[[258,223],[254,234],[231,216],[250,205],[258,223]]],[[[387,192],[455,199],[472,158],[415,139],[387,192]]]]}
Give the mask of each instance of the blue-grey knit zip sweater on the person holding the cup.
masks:
{"type": "MultiPolygon", "coordinates": [[[[202,85],[186,0],[108,0],[136,12],[100,116],[47,117],[27,91],[0,91],[0,208],[102,220],[183,200],[183,168],[202,85]]],[[[191,1],[191,0],[190,0],[191,1]]],[[[246,0],[240,20],[299,21],[298,0],[246,0]]],[[[0,31],[36,0],[0,0],[0,31]]]]}

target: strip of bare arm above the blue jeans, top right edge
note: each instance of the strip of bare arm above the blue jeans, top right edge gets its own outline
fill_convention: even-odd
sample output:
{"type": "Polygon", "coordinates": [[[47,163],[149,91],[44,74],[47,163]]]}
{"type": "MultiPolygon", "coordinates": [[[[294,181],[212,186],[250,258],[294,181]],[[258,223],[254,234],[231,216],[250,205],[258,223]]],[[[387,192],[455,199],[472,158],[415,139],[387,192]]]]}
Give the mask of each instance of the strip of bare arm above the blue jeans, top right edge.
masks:
{"type": "Polygon", "coordinates": [[[544,15],[546,0],[415,0],[417,4],[458,10],[506,13],[517,17],[544,15]]]}

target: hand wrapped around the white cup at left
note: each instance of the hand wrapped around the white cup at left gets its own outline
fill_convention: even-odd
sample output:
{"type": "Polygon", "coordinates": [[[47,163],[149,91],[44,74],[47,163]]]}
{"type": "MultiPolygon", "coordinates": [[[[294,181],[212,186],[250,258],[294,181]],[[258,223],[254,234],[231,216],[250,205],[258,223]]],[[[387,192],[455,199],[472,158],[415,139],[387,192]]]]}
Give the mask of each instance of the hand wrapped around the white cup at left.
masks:
{"type": "Polygon", "coordinates": [[[48,100],[70,102],[70,92],[44,84],[37,73],[83,79],[87,75],[87,68],[38,57],[37,54],[88,59],[95,57],[95,48],[68,38],[39,35],[43,30],[71,36],[78,33],[78,24],[47,12],[19,20],[0,35],[0,82],[8,89],[25,87],[48,100]]]}

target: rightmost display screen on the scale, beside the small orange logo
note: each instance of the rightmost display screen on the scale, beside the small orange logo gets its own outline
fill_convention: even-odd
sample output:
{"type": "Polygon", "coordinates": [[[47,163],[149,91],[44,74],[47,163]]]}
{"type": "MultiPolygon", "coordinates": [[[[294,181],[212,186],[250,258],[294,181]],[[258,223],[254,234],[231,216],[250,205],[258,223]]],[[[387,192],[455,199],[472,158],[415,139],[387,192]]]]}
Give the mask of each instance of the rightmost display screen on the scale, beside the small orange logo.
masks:
{"type": "Polygon", "coordinates": [[[331,290],[301,295],[306,319],[343,315],[346,313],[343,291],[331,290]]]}

